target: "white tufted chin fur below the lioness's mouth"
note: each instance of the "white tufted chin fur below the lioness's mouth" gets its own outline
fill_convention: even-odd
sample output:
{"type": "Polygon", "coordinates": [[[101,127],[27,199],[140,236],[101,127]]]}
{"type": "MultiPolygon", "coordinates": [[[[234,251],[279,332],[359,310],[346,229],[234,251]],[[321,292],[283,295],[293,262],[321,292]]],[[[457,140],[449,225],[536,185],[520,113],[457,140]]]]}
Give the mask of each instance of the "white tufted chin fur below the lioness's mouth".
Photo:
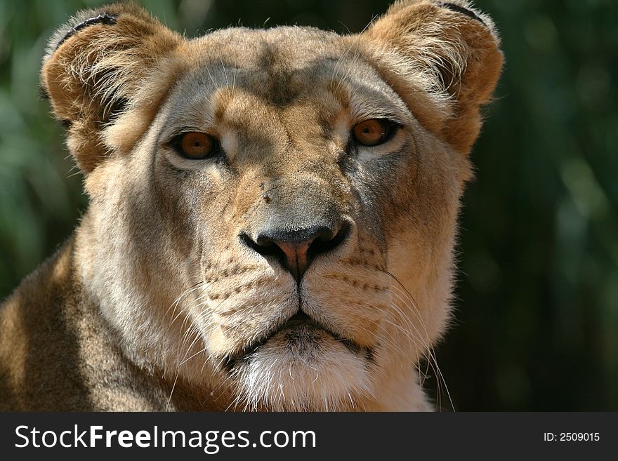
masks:
{"type": "Polygon", "coordinates": [[[233,368],[236,409],[362,410],[359,397],[372,394],[370,365],[330,335],[299,348],[280,333],[233,368]]]}

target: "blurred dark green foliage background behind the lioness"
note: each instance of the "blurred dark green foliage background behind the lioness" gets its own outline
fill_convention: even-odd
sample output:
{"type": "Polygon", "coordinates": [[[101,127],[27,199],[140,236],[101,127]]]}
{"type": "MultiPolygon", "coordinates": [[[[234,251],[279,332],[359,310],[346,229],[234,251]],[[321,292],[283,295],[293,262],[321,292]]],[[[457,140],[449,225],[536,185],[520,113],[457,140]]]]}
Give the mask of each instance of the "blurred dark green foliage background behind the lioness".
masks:
{"type": "MultiPolygon", "coordinates": [[[[239,20],[358,32],[388,5],[140,3],[188,36],[239,20]]],[[[38,72],[53,29],[98,4],[0,0],[0,298],[86,207],[38,72]]],[[[618,410],[618,2],[476,4],[497,22],[506,66],[472,154],[442,373],[457,410],[618,410]]]]}

